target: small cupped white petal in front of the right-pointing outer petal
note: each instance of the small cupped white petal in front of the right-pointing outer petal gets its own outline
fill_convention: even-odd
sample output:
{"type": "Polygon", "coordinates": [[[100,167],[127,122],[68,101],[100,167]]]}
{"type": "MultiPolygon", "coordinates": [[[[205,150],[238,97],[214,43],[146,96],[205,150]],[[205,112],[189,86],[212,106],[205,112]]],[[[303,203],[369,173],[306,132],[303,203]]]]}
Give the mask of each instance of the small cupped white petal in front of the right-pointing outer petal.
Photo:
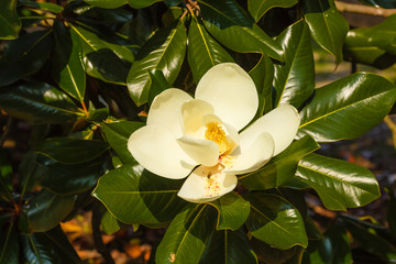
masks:
{"type": "Polygon", "coordinates": [[[237,175],[251,173],[271,160],[274,153],[274,140],[268,133],[262,133],[248,150],[233,156],[235,152],[231,154],[229,162],[231,166],[226,164],[227,168],[223,172],[237,175]]]}

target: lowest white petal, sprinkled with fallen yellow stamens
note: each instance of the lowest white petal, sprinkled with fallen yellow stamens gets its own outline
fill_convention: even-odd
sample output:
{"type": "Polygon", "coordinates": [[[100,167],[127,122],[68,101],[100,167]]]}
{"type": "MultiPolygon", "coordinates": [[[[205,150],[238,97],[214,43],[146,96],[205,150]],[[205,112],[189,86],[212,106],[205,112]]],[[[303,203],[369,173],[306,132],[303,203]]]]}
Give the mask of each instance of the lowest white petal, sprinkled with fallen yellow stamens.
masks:
{"type": "Polygon", "coordinates": [[[209,178],[208,173],[213,170],[216,169],[205,166],[197,167],[177,195],[190,202],[206,202],[216,200],[235,188],[238,183],[235,175],[217,170],[209,178]]]}

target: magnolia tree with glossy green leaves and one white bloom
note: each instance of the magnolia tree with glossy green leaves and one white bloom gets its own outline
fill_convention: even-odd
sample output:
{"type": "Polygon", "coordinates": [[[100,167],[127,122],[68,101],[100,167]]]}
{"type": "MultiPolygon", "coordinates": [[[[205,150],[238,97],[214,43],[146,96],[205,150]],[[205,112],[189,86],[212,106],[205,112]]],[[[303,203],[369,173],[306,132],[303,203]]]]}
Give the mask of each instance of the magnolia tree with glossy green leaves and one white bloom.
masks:
{"type": "Polygon", "coordinates": [[[59,222],[81,209],[107,263],[100,232],[131,226],[166,228],[151,263],[351,263],[352,240],[395,260],[395,212],[389,229],[340,215],[319,230],[305,197],[342,211],[381,196],[370,170],[315,152],[378,124],[396,86],[356,73],[316,89],[312,43],[334,67],[386,68],[396,16],[350,31],[333,0],[0,4],[0,143],[31,124],[22,161],[0,152],[0,263],[80,263],[59,222]]]}

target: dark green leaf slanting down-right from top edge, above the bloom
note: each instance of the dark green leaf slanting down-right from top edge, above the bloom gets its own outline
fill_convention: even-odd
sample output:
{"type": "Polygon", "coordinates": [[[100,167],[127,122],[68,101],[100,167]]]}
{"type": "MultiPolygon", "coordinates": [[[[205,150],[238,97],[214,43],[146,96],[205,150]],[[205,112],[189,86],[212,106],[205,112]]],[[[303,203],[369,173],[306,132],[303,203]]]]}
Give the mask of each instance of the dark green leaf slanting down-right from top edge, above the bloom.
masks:
{"type": "Polygon", "coordinates": [[[240,53],[260,52],[284,61],[280,45],[271,38],[234,0],[198,0],[205,26],[224,46],[240,53]]]}

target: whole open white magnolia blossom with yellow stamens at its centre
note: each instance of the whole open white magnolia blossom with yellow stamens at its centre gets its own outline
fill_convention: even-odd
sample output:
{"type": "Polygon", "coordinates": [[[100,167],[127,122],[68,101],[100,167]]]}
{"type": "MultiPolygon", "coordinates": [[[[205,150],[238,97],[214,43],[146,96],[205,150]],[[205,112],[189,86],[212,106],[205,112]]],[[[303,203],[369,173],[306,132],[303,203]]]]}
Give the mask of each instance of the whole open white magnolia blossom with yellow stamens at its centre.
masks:
{"type": "Polygon", "coordinates": [[[178,196],[191,202],[232,191],[235,175],[261,168],[295,138],[300,118],[280,105],[242,132],[254,118],[258,97],[252,78],[237,64],[219,64],[199,81],[195,99],[170,88],[152,102],[147,124],[132,133],[128,148],[147,170],[187,177],[178,196]]]}

